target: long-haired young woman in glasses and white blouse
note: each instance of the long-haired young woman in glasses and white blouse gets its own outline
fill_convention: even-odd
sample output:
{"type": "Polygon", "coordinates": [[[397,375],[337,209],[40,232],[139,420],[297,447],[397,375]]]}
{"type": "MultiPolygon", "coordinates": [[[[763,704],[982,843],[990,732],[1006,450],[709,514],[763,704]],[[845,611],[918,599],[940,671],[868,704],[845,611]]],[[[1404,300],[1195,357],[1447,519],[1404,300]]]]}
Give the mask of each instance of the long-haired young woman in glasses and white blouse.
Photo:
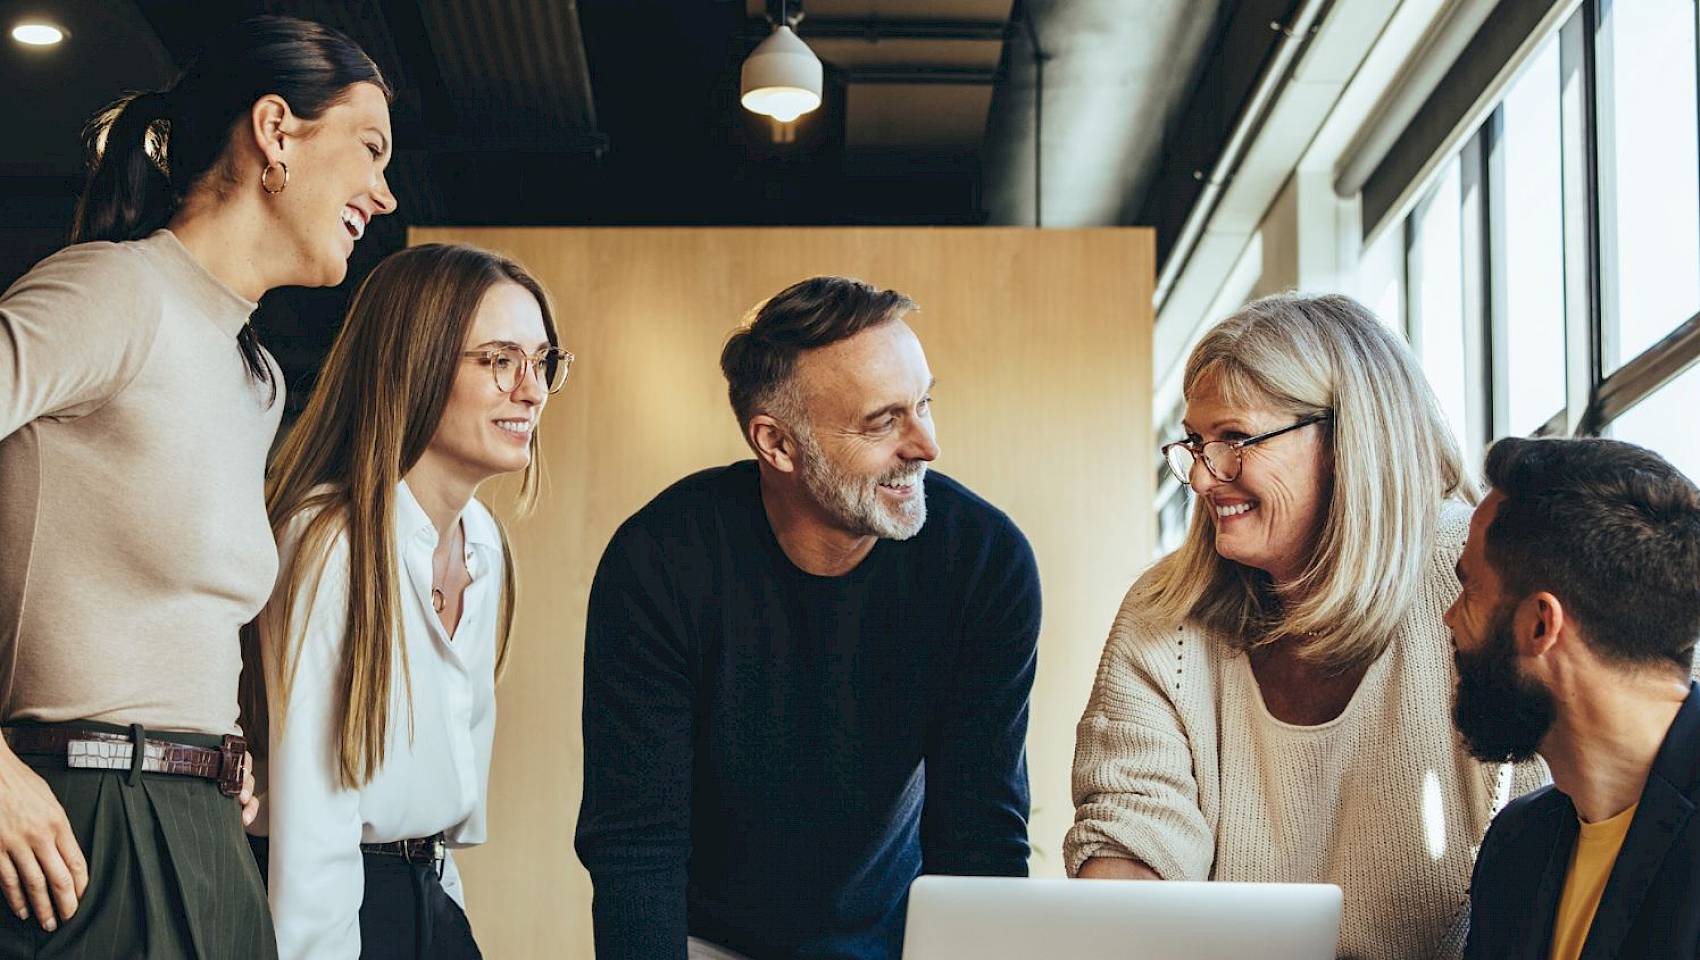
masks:
{"type": "Polygon", "coordinates": [[[277,452],[282,566],[246,709],[286,960],[479,955],[447,850],[484,839],[515,586],[474,493],[524,472],[522,510],[536,498],[537,420],[571,362],[518,263],[403,250],[360,284],[277,452]]]}

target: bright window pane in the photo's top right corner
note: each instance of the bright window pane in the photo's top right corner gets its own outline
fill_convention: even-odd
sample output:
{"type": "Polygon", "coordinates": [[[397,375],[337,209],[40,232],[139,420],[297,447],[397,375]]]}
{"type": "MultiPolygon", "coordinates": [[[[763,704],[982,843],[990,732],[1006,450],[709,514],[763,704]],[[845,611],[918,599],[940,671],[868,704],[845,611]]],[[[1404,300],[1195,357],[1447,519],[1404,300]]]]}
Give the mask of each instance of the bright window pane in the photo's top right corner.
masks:
{"type": "Polygon", "coordinates": [[[1595,63],[1612,374],[1700,313],[1695,0],[1601,0],[1595,63]]]}

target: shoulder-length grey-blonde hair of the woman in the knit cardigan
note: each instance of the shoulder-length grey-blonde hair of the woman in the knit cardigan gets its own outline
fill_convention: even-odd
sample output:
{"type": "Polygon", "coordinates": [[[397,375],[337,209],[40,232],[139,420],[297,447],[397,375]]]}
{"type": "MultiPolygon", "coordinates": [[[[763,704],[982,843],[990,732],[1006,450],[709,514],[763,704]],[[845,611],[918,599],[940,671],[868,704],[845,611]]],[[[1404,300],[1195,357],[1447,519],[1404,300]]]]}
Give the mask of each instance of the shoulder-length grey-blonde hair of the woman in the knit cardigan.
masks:
{"type": "Polygon", "coordinates": [[[1209,511],[1193,510],[1185,542],[1141,578],[1136,600],[1158,622],[1193,622],[1244,649],[1304,637],[1312,663],[1374,661],[1416,600],[1440,505],[1477,496],[1416,360],[1352,297],[1278,294],[1205,333],[1183,392],[1205,379],[1232,406],[1333,411],[1323,530],[1304,573],[1275,584],[1217,554],[1209,511]]]}

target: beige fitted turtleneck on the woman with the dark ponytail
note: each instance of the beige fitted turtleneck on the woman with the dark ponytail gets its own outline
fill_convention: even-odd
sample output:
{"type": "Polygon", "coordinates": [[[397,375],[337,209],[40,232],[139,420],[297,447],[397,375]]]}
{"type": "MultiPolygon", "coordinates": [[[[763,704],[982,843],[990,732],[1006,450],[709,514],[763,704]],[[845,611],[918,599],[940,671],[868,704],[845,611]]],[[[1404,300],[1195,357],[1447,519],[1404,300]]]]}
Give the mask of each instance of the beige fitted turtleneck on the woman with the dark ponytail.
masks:
{"type": "Polygon", "coordinates": [[[253,308],[165,229],[0,296],[0,720],[236,731],[284,406],[236,345],[253,308]]]}

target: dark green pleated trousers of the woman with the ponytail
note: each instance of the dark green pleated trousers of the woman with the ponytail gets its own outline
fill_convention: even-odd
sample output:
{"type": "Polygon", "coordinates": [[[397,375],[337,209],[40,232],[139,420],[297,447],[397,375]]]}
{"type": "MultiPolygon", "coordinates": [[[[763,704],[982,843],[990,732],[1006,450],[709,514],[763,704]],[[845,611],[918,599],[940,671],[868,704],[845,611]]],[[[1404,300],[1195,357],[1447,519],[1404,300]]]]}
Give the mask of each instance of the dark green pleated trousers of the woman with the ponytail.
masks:
{"type": "MultiPolygon", "coordinates": [[[[129,734],[107,724],[42,724],[129,734]]],[[[219,737],[144,736],[218,746],[219,737]]],[[[0,960],[275,958],[265,887],[243,844],[241,807],[212,780],[71,770],[19,754],[53,788],[88,861],[76,914],[46,933],[0,907],[0,960]]]]}

